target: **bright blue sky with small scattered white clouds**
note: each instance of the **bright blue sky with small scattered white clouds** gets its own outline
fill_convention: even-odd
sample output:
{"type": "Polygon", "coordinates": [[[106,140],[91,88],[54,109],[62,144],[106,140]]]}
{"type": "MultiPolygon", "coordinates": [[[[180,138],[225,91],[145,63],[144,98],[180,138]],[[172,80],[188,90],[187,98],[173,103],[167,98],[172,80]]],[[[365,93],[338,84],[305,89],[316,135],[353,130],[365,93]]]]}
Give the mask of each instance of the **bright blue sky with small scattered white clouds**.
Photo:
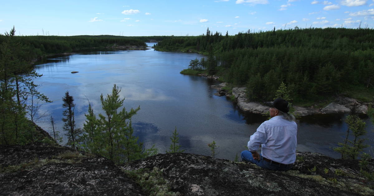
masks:
{"type": "Polygon", "coordinates": [[[0,33],[201,35],[295,28],[374,28],[374,0],[11,0],[0,33]]]}

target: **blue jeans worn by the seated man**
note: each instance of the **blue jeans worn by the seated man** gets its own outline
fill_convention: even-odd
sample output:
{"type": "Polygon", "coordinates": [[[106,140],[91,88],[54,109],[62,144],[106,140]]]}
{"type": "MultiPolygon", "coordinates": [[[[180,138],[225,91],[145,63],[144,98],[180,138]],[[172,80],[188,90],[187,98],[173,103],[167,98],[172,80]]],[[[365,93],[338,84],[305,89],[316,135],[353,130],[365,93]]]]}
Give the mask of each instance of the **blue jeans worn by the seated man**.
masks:
{"type": "Polygon", "coordinates": [[[259,167],[262,167],[264,169],[269,169],[269,170],[287,171],[287,170],[291,169],[291,167],[293,165],[293,164],[288,164],[288,165],[273,164],[273,163],[267,162],[263,159],[261,154],[260,154],[260,160],[255,160],[255,159],[253,159],[252,153],[249,150],[244,150],[241,153],[241,156],[242,156],[243,161],[251,162],[253,164],[256,164],[259,167]]]}

